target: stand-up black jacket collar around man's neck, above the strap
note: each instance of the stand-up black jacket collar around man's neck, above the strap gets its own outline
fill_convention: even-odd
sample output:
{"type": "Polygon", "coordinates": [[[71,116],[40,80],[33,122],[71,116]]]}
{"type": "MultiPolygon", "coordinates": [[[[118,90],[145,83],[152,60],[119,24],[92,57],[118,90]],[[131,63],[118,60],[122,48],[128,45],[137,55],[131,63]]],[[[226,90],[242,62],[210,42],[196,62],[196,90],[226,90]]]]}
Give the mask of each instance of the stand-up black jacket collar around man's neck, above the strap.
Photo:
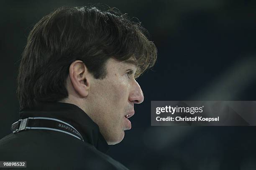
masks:
{"type": "Polygon", "coordinates": [[[64,102],[40,102],[31,109],[24,108],[19,112],[20,118],[51,117],[74,126],[85,142],[94,145],[103,153],[108,151],[108,143],[100,133],[99,126],[77,105],[64,102]]]}

